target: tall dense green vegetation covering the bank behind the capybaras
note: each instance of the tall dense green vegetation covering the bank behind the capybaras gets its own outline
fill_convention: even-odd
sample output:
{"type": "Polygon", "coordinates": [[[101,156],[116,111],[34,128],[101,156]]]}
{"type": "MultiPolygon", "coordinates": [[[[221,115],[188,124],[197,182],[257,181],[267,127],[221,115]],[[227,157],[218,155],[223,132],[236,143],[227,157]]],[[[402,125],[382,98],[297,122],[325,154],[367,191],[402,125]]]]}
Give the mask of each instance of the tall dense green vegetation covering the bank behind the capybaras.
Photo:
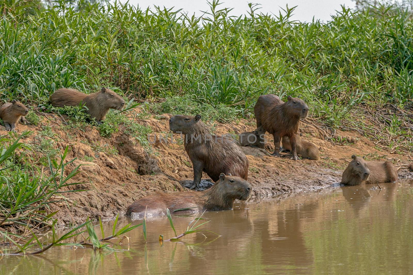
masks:
{"type": "MultiPolygon", "coordinates": [[[[155,113],[223,121],[251,115],[261,94],[293,95],[309,104],[313,118],[345,129],[361,128],[351,122],[367,109],[392,110],[390,120],[368,116],[388,131],[367,125],[361,132],[382,145],[398,135],[395,142],[408,140],[404,148],[413,144],[406,115],[413,103],[413,24],[402,9],[342,7],[324,24],[294,21],[288,7],[262,14],[254,4],[247,16],[231,17],[216,0],[202,18],[98,1],[26,2],[5,1],[2,9],[0,92],[7,99],[44,104],[58,87],[95,92],[105,85],[166,98],[150,106],[155,113]]],[[[114,131],[101,129],[105,136],[114,131]]]]}

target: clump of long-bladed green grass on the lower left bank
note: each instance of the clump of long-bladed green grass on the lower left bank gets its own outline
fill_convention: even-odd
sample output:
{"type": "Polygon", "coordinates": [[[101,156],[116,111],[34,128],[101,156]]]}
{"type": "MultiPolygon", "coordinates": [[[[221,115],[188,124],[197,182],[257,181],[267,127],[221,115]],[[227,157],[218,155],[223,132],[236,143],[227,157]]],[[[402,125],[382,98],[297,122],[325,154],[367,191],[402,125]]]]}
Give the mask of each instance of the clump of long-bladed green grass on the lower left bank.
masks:
{"type": "Polygon", "coordinates": [[[62,188],[77,184],[68,181],[77,174],[79,166],[65,176],[65,167],[73,162],[65,160],[68,148],[58,159],[47,156],[47,166],[30,164],[26,154],[33,150],[20,142],[26,135],[17,139],[12,135],[0,136],[0,226],[34,232],[52,226],[56,212],[47,213],[45,208],[51,202],[65,202],[54,196],[73,192],[62,188]]]}

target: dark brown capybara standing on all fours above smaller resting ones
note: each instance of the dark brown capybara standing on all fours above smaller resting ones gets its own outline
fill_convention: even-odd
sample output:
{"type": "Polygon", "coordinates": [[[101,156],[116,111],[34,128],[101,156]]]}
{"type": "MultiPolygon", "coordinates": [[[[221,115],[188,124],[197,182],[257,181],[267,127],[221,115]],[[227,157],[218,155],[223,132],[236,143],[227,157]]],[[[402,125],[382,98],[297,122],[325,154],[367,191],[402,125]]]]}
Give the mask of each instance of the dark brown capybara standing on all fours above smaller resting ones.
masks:
{"type": "Polygon", "coordinates": [[[274,94],[265,94],[259,97],[254,106],[257,128],[263,129],[274,136],[275,150],[273,156],[280,156],[280,141],[288,136],[291,143],[291,159],[298,160],[296,134],[300,118],[305,118],[309,107],[297,97],[287,97],[283,102],[274,94]]]}

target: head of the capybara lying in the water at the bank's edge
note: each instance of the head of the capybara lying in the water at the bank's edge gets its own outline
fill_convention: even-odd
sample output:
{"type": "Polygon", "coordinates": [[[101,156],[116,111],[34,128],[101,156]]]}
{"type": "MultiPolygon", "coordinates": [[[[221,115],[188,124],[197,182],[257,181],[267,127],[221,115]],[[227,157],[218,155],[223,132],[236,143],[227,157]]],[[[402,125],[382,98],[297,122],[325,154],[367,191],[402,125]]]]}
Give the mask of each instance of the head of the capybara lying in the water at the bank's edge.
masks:
{"type": "Polygon", "coordinates": [[[217,183],[219,186],[219,192],[224,194],[225,197],[237,200],[247,200],[252,192],[251,184],[241,179],[237,176],[232,176],[231,174],[225,175],[221,173],[219,175],[220,182],[217,183]]]}

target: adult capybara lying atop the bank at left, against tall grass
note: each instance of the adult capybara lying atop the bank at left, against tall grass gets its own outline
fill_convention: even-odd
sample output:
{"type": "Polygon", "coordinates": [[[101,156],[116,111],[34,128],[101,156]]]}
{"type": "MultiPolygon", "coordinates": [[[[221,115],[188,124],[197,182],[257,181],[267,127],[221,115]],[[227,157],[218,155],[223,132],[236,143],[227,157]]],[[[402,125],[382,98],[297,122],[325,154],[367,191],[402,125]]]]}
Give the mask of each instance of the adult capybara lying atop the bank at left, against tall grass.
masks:
{"type": "Polygon", "coordinates": [[[83,94],[75,89],[60,88],[50,96],[55,107],[79,106],[84,104],[86,111],[98,124],[102,124],[109,109],[122,110],[125,100],[111,89],[103,87],[94,94],[83,94]]]}

